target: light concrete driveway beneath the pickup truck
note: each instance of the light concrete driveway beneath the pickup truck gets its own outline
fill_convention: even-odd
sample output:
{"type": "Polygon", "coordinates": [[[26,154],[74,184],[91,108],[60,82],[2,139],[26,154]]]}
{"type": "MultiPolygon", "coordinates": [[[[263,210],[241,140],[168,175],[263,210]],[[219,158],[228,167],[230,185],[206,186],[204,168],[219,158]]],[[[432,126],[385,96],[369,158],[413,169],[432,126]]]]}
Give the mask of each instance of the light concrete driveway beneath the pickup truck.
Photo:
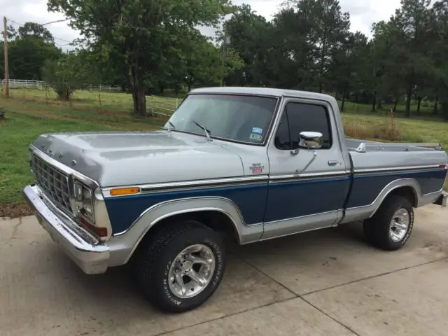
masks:
{"type": "Polygon", "coordinates": [[[0,335],[448,335],[448,209],[417,210],[400,251],[360,229],[230,246],[215,295],[167,315],[125,267],[87,276],[33,217],[0,220],[0,335]]]}

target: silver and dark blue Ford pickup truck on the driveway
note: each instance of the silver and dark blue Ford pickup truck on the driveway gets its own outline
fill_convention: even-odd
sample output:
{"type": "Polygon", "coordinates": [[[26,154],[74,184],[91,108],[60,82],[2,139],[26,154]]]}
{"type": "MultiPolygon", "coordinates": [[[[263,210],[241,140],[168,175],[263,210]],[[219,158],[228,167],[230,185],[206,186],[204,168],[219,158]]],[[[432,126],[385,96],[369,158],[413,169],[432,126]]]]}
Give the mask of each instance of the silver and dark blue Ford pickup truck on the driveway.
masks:
{"type": "Polygon", "coordinates": [[[440,144],[347,139],[335,98],[314,92],[195,89],[160,130],[43,134],[29,149],[23,191],[53,241],[86,274],[127,264],[170,312],[218,288],[227,237],[363,221],[366,241],[397,250],[414,208],[448,197],[440,144]]]}

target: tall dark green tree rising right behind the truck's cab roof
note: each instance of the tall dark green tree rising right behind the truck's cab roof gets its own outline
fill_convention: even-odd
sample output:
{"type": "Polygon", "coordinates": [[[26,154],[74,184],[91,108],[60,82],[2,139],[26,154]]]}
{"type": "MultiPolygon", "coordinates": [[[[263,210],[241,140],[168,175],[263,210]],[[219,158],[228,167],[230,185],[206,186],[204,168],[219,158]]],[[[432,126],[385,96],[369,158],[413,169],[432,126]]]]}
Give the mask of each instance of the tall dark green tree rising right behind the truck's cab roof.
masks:
{"type": "Polygon", "coordinates": [[[349,14],[342,13],[339,1],[288,0],[273,23],[279,54],[276,82],[318,92],[332,90],[330,68],[350,27],[349,14]]]}

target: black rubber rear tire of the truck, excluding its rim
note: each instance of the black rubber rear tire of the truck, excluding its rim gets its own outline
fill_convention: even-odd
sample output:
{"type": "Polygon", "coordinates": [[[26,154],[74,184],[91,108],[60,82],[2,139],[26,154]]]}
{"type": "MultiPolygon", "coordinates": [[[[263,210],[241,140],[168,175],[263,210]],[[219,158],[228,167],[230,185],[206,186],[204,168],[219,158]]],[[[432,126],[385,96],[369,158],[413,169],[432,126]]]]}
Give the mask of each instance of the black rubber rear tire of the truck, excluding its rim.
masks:
{"type": "Polygon", "coordinates": [[[377,212],[364,221],[364,235],[367,241],[377,248],[393,251],[405,246],[414,226],[414,209],[407,198],[389,195],[381,204],[377,212]],[[400,241],[393,241],[389,235],[391,221],[396,211],[406,209],[409,214],[409,225],[404,237],[400,241]]]}

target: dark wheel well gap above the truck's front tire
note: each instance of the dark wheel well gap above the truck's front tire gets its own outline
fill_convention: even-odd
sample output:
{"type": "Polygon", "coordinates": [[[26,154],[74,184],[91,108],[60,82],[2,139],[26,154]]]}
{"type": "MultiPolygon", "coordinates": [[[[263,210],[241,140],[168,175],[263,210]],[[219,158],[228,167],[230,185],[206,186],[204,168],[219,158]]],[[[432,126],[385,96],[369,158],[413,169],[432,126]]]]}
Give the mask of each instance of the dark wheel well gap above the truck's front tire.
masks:
{"type": "Polygon", "coordinates": [[[235,225],[230,219],[230,217],[224,214],[221,211],[217,210],[205,210],[205,211],[192,211],[187,212],[185,214],[178,214],[169,216],[167,218],[163,218],[161,221],[155,223],[149,230],[146,232],[146,235],[141,240],[139,245],[146,241],[147,239],[151,239],[153,235],[157,234],[160,229],[164,228],[165,225],[169,225],[174,221],[186,221],[193,220],[202,223],[203,225],[211,228],[212,230],[219,232],[221,235],[225,237],[225,239],[232,239],[236,243],[239,242],[239,235],[235,225]]]}

